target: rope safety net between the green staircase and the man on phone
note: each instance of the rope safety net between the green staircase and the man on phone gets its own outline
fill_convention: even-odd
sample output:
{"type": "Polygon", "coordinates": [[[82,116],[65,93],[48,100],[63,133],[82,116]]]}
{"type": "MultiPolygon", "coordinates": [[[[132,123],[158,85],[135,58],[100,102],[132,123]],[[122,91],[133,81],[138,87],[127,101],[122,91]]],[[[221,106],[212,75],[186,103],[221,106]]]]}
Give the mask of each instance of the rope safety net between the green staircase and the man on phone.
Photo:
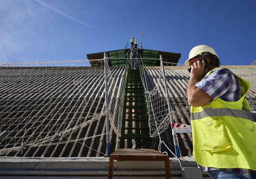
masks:
{"type": "MultiPolygon", "coordinates": [[[[151,137],[157,137],[170,128],[171,122],[190,125],[189,104],[186,98],[186,84],[189,80],[186,70],[165,66],[165,78],[161,67],[148,68],[152,80],[156,84],[148,92],[150,99],[150,119],[152,119],[151,137]],[[165,85],[166,83],[166,85],[165,85]],[[167,90],[165,88],[167,86],[167,90]],[[168,98],[170,97],[169,105],[168,98]]],[[[150,82],[150,81],[149,81],[150,82]]]]}

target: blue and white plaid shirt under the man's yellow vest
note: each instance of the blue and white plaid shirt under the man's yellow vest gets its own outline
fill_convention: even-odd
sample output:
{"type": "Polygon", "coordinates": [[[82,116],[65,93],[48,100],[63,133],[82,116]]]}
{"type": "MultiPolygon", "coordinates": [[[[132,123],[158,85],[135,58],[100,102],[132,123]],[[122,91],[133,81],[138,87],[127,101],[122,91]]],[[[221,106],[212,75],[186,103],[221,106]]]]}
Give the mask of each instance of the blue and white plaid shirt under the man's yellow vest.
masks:
{"type": "MultiPolygon", "coordinates": [[[[221,100],[232,102],[239,100],[243,96],[240,83],[238,83],[232,72],[226,68],[213,70],[195,86],[209,94],[212,100],[220,98],[221,100]]],[[[202,170],[204,172],[226,170],[239,173],[249,179],[256,179],[256,171],[244,168],[212,168],[202,166],[202,170]]]]}

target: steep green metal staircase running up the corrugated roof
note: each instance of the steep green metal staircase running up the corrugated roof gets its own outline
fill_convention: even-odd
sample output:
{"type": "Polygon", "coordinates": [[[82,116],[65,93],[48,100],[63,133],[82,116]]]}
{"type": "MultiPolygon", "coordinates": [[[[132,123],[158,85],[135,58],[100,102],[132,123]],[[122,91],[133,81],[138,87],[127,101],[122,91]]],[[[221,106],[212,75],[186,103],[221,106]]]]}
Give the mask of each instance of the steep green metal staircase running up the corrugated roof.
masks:
{"type": "MultiPolygon", "coordinates": [[[[130,63],[127,63],[130,64],[130,63]]],[[[148,100],[141,78],[142,63],[133,70],[128,66],[124,86],[121,135],[117,148],[151,148],[148,100]],[[141,69],[141,70],[139,70],[141,69]]]]}

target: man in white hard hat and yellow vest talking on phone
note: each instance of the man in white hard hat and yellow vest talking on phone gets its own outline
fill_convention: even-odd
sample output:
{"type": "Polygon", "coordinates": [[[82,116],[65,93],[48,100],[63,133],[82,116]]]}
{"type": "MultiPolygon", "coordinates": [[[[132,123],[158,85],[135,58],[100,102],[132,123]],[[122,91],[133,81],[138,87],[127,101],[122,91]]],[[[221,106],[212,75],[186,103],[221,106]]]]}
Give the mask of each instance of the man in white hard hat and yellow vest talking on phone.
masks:
{"type": "Polygon", "coordinates": [[[250,83],[220,67],[207,45],[193,47],[185,65],[195,161],[212,179],[256,179],[256,126],[245,98],[250,83]]]}

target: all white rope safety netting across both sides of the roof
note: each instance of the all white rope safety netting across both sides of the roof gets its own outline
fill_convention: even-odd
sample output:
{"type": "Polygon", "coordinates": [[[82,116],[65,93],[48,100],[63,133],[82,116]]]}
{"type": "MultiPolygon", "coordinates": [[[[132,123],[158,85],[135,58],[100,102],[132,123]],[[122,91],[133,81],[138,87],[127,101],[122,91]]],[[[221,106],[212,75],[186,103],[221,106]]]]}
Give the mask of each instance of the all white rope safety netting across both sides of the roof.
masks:
{"type": "MultiPolygon", "coordinates": [[[[1,63],[0,156],[103,156],[107,114],[114,150],[112,144],[121,136],[125,67],[107,66],[109,107],[106,110],[104,60],[94,61],[94,66],[85,66],[89,60],[1,63]]],[[[190,125],[186,97],[189,72],[184,66],[173,65],[164,66],[167,90],[161,66],[144,67],[150,136],[169,140],[169,148],[173,148],[171,122],[190,125]]],[[[256,66],[227,68],[251,84],[247,100],[256,113],[256,66]]],[[[180,133],[178,139],[179,144],[187,141],[192,145],[191,133],[180,133]]],[[[192,152],[189,146],[185,147],[192,152]]]]}

